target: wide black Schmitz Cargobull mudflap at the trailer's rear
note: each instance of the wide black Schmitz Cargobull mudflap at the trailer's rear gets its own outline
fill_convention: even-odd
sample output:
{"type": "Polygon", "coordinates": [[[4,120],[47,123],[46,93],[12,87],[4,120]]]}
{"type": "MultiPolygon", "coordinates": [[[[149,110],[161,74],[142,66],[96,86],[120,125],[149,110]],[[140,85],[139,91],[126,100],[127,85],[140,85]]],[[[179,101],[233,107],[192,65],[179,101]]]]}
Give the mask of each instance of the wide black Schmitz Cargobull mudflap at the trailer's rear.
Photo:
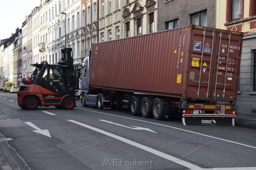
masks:
{"type": "Polygon", "coordinates": [[[236,115],[229,114],[182,114],[183,125],[234,126],[236,115]]]}

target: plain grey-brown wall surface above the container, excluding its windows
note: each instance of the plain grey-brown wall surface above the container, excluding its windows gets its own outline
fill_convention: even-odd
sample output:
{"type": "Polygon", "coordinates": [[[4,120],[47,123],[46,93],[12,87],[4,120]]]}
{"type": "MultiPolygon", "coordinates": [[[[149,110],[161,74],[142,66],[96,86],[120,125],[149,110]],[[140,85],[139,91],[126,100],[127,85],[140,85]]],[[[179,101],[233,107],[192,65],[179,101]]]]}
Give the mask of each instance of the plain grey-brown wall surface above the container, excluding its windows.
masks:
{"type": "Polygon", "coordinates": [[[212,0],[165,0],[159,2],[158,30],[165,30],[165,22],[179,18],[179,27],[190,24],[189,14],[207,9],[207,27],[215,27],[216,1],[212,0]]]}

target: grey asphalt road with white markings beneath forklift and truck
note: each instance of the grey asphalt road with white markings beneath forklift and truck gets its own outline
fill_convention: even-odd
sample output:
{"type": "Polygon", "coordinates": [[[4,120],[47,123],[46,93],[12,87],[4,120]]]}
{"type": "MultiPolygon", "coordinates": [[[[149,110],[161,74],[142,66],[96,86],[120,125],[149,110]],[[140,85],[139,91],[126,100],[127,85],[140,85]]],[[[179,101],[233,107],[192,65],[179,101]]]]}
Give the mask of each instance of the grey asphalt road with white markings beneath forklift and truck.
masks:
{"type": "Polygon", "coordinates": [[[184,126],[128,109],[19,108],[0,93],[0,149],[20,169],[256,169],[255,129],[184,126]]]}

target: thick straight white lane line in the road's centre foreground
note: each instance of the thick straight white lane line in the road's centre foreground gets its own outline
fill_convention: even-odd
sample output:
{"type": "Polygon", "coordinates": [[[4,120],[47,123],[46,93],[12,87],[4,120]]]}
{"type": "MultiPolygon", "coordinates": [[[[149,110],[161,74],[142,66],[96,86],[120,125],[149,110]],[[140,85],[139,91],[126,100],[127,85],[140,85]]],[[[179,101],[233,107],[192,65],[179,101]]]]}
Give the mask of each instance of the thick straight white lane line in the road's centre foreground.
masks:
{"type": "Polygon", "coordinates": [[[199,166],[193,165],[193,164],[188,163],[188,162],[186,162],[186,161],[180,160],[180,159],[175,158],[175,157],[173,157],[173,156],[167,155],[167,154],[165,154],[165,153],[163,153],[163,152],[160,152],[160,151],[157,151],[157,150],[152,149],[152,148],[150,148],[150,147],[141,145],[141,144],[136,143],[136,142],[134,142],[134,141],[132,141],[132,140],[128,140],[128,139],[125,139],[125,138],[123,138],[123,137],[114,135],[114,134],[109,133],[109,132],[106,132],[106,131],[104,131],[104,130],[101,130],[101,129],[98,129],[98,128],[95,128],[95,127],[92,127],[92,126],[89,126],[89,125],[86,125],[86,124],[83,124],[83,123],[74,121],[74,120],[67,120],[67,121],[76,123],[76,124],[78,124],[78,125],[81,125],[81,126],[86,127],[86,128],[88,128],[88,129],[91,129],[91,130],[94,130],[94,131],[96,131],[96,132],[102,133],[102,134],[104,134],[104,135],[110,136],[110,137],[112,137],[112,138],[121,140],[121,141],[123,141],[123,142],[125,142],[125,143],[128,143],[128,144],[132,145],[132,146],[135,146],[135,147],[137,147],[137,148],[140,148],[140,149],[143,149],[143,150],[145,150],[145,151],[151,152],[151,153],[153,153],[153,154],[155,154],[155,155],[157,155],[157,156],[160,156],[160,157],[165,158],[165,159],[167,159],[167,160],[173,161],[173,162],[175,162],[175,163],[177,163],[177,164],[183,165],[183,166],[188,167],[188,168],[190,168],[190,169],[203,169],[203,168],[201,168],[201,167],[199,167],[199,166]]]}

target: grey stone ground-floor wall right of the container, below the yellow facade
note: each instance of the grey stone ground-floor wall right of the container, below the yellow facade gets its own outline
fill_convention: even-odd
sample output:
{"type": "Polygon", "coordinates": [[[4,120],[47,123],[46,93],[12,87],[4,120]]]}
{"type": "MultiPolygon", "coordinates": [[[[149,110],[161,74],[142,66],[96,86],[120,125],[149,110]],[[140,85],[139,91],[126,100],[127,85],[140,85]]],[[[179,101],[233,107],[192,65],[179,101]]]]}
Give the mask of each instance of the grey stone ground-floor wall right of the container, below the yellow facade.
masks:
{"type": "Polygon", "coordinates": [[[240,91],[238,91],[237,114],[256,117],[256,91],[253,91],[253,60],[256,36],[244,36],[241,66],[240,91]]]}

